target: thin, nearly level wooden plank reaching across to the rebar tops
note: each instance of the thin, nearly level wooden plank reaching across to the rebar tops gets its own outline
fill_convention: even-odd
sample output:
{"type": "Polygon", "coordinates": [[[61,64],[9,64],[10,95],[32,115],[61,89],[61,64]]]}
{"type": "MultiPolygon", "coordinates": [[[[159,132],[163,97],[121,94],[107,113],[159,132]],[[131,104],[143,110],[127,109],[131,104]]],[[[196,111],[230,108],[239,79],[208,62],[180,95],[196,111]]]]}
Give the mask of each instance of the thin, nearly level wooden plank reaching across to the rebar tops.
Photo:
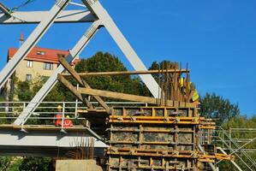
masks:
{"type": "MultiPolygon", "coordinates": [[[[161,73],[186,73],[187,69],[164,69],[161,73]]],[[[189,71],[188,71],[189,72],[189,71]]],[[[158,74],[158,70],[148,71],[114,71],[114,72],[95,72],[95,73],[79,73],[80,77],[86,76],[103,76],[103,75],[124,75],[124,74],[158,74]]],[[[70,74],[63,74],[68,76],[70,74]]]]}

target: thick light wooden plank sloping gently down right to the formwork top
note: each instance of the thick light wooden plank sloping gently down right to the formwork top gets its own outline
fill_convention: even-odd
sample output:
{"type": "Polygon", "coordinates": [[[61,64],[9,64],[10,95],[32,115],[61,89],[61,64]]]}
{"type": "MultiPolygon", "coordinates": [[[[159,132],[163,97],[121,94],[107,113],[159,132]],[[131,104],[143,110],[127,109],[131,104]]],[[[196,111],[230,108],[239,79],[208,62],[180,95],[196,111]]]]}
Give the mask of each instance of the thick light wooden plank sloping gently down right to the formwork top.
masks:
{"type": "MultiPolygon", "coordinates": [[[[116,99],[122,99],[122,100],[128,100],[133,102],[141,102],[141,103],[151,103],[151,104],[158,104],[159,100],[158,98],[153,97],[143,97],[143,96],[136,96],[131,94],[125,94],[121,92],[113,92],[113,91],[101,91],[97,89],[91,89],[91,88],[79,88],[80,93],[82,94],[88,94],[92,96],[100,96],[100,97],[110,97],[110,98],[116,98],[116,99]]],[[[193,103],[183,103],[183,102],[175,102],[177,106],[180,107],[195,107],[193,103]]],[[[166,105],[167,106],[173,106],[174,102],[172,100],[167,100],[166,105]]]]}

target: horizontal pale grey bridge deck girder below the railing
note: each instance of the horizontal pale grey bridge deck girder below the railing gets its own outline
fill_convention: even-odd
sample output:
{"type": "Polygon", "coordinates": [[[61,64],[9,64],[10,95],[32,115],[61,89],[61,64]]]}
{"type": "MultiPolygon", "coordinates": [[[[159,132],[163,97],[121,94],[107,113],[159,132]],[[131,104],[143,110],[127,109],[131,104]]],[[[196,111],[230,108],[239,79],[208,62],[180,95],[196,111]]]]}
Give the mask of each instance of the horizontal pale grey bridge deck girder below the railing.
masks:
{"type": "MultiPolygon", "coordinates": [[[[90,130],[91,131],[91,130],[90,130]]],[[[94,139],[95,147],[107,147],[102,141],[95,139],[89,131],[68,131],[63,134],[60,131],[33,130],[27,133],[12,130],[0,130],[0,146],[57,146],[75,147],[86,139],[94,139]]]]}

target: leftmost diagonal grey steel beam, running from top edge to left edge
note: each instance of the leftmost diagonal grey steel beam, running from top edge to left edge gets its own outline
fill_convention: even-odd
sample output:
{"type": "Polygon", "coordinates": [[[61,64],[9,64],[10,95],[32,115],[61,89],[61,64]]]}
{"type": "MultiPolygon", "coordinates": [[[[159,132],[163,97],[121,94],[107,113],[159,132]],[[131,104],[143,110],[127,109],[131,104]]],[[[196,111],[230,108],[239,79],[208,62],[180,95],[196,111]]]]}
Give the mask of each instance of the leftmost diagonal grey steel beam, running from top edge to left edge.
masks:
{"type": "Polygon", "coordinates": [[[39,23],[21,48],[15,53],[15,56],[5,65],[0,73],[0,89],[3,87],[9,77],[15,72],[20,62],[27,56],[33,47],[39,42],[39,39],[45,34],[52,23],[56,20],[61,11],[68,5],[69,0],[58,0],[51,8],[49,15],[45,16],[45,20],[39,23]]]}

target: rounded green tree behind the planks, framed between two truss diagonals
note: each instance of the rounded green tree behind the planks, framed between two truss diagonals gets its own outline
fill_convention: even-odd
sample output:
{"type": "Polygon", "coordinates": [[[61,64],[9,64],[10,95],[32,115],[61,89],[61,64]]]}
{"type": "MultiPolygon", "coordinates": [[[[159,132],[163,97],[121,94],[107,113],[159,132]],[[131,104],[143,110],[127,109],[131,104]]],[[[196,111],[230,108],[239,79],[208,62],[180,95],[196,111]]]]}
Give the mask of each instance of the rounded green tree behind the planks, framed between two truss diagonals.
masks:
{"type": "MultiPolygon", "coordinates": [[[[88,59],[82,59],[75,67],[79,73],[83,72],[105,72],[105,71],[127,71],[122,62],[110,53],[98,52],[88,59]]],[[[92,76],[86,77],[86,82],[92,88],[105,91],[118,91],[130,94],[140,94],[140,79],[130,75],[115,76],[92,76]]]]}

